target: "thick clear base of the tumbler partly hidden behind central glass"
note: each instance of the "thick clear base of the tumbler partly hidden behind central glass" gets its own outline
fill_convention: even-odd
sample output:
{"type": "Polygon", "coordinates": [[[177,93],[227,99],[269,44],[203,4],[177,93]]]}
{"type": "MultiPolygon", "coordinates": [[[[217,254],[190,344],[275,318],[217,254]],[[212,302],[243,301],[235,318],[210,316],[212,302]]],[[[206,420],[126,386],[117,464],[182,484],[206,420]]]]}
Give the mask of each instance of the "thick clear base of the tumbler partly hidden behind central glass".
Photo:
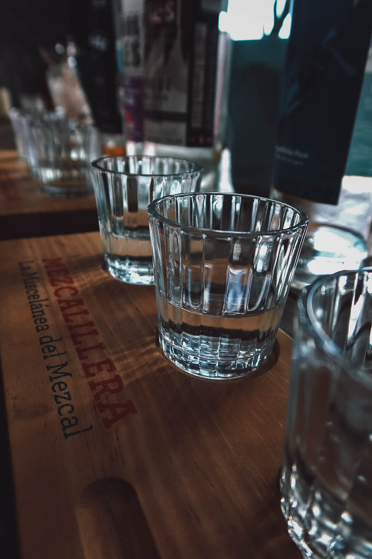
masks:
{"type": "Polygon", "coordinates": [[[154,285],[154,272],[151,264],[142,260],[104,255],[105,269],[117,280],[138,285],[154,285]]]}

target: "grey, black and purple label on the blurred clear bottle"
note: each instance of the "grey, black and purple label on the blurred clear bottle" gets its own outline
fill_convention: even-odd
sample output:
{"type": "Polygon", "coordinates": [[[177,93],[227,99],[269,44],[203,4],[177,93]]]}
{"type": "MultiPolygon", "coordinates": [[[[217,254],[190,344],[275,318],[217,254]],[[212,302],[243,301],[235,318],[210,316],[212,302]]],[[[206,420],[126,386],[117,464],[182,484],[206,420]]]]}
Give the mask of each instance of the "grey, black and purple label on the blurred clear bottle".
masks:
{"type": "Polygon", "coordinates": [[[136,25],[123,26],[128,139],[141,141],[142,132],[142,139],[154,143],[211,146],[220,0],[129,0],[123,2],[124,22],[129,17],[128,4],[132,20],[136,18],[136,25]],[[133,53],[134,31],[136,68],[128,58],[133,53]]]}

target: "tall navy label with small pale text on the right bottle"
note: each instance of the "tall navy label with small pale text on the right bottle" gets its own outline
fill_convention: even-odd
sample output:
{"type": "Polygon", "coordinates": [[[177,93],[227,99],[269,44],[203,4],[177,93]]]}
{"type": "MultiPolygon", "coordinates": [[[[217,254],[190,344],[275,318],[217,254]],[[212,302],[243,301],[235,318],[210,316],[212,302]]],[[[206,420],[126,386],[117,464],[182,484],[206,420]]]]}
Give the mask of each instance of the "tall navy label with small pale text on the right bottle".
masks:
{"type": "Polygon", "coordinates": [[[370,0],[294,2],[273,186],[337,204],[372,31],[370,0]]]}

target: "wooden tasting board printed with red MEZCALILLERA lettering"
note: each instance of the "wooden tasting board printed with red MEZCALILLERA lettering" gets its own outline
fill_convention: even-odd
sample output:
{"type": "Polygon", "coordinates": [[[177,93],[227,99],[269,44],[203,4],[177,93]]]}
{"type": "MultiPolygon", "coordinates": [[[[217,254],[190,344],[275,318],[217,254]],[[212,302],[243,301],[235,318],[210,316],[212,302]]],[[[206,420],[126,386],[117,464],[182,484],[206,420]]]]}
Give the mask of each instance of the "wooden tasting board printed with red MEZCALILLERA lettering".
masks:
{"type": "Polygon", "coordinates": [[[0,245],[22,559],[300,559],[278,490],[291,338],[263,376],[201,381],[160,356],[154,288],[103,271],[98,233],[0,245]]]}

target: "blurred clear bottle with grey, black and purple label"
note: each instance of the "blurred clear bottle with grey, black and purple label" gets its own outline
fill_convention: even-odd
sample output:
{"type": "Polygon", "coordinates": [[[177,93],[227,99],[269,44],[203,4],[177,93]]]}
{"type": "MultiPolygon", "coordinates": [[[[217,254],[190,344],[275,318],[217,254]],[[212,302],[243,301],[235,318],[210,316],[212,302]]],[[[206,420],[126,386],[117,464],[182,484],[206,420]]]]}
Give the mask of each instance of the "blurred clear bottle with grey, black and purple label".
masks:
{"type": "Polygon", "coordinates": [[[218,185],[226,120],[223,7],[220,0],[126,0],[115,12],[128,152],[198,162],[204,190],[218,185]]]}

